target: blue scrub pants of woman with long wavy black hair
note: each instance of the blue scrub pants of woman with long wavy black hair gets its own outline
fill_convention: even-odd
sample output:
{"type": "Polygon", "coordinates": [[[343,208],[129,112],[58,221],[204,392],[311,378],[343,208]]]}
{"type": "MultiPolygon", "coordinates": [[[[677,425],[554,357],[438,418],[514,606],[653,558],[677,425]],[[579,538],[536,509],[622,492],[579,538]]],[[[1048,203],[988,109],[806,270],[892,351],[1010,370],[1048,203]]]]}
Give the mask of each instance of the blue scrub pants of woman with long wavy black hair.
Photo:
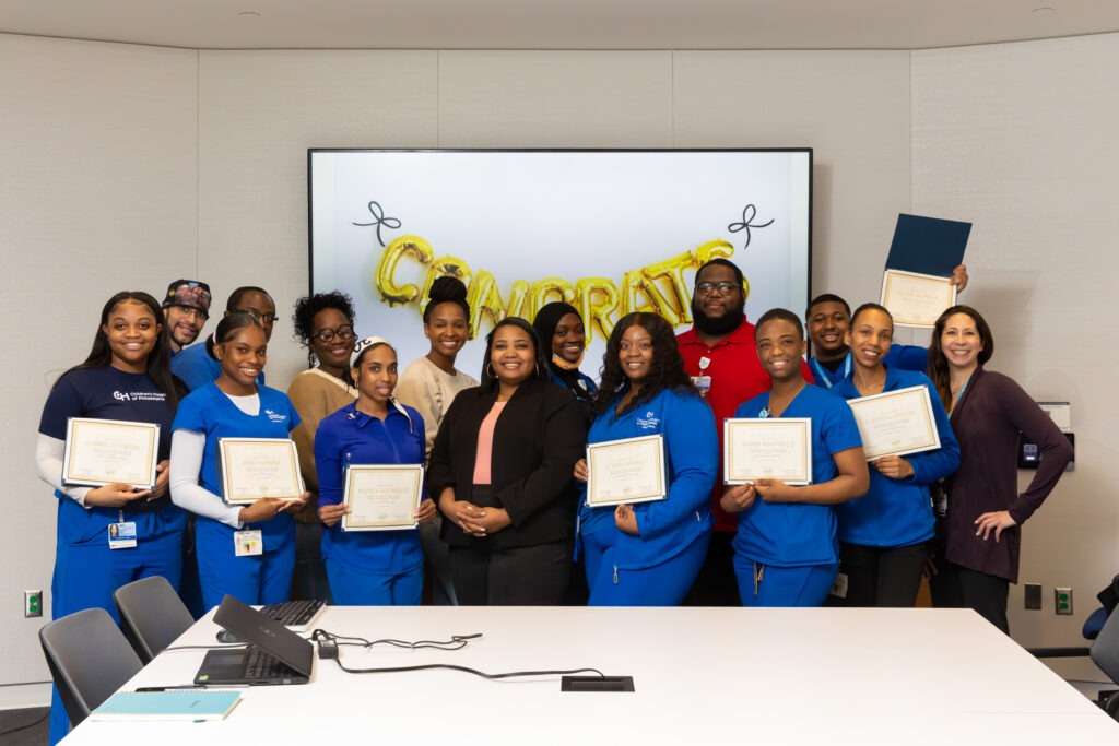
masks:
{"type": "Polygon", "coordinates": [[[615,567],[614,548],[609,548],[591,580],[587,606],[679,606],[699,575],[709,542],[711,531],[704,531],[678,555],[639,569],[615,567]]]}

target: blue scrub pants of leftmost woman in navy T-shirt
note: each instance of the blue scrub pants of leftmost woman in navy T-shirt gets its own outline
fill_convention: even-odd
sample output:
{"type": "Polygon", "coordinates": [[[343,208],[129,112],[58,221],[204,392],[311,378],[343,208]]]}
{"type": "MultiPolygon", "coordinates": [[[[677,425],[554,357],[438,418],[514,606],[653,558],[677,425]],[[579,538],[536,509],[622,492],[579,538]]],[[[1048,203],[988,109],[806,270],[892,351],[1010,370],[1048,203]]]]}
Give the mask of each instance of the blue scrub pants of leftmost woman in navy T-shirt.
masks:
{"type": "MultiPolygon", "coordinates": [[[[125,514],[137,522],[137,546],[109,548],[109,525],[117,511],[87,510],[70,498],[58,498],[58,530],[55,572],[50,579],[50,617],[62,618],[84,608],[104,608],[113,620],[113,592],[152,575],[162,575],[176,589],[182,574],[184,514],[177,508],[158,513],[125,514]]],[[[50,697],[50,743],[69,731],[69,717],[58,689],[50,697]]]]}

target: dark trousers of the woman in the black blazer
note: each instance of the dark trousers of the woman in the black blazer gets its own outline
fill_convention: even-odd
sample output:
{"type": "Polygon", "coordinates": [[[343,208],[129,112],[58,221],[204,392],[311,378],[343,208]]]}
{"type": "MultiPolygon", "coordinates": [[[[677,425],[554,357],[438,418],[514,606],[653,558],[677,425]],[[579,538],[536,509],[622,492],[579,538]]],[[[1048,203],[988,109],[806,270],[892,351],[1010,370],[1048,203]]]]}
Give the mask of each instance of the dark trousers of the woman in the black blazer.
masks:
{"type": "Polygon", "coordinates": [[[451,577],[462,606],[558,606],[571,580],[570,540],[498,549],[490,541],[451,547],[451,577]]]}

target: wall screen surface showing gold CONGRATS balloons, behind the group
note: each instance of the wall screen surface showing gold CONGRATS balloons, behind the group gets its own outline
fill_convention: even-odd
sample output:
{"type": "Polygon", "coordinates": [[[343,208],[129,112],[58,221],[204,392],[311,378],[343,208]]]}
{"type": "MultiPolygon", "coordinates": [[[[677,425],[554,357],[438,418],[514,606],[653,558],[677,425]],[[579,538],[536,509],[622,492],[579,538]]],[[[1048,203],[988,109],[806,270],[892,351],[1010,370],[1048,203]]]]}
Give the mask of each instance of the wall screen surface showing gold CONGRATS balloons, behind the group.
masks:
{"type": "Polygon", "coordinates": [[[341,290],[361,337],[401,369],[425,355],[431,282],[469,290],[476,378],[485,334],[554,300],[581,309],[598,378],[630,311],[690,327],[695,270],[723,256],[750,285],[746,313],[808,302],[811,151],[355,151],[309,153],[311,285],[341,290]]]}

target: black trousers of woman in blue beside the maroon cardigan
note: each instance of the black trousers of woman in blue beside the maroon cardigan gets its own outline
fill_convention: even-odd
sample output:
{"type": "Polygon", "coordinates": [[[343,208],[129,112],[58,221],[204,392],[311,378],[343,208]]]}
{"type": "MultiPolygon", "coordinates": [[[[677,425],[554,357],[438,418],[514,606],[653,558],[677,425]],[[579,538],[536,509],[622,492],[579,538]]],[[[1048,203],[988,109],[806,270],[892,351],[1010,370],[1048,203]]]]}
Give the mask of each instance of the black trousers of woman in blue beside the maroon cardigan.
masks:
{"type": "Polygon", "coordinates": [[[909,608],[916,603],[929,541],[909,547],[839,545],[839,572],[847,575],[845,606],[909,608]]]}

